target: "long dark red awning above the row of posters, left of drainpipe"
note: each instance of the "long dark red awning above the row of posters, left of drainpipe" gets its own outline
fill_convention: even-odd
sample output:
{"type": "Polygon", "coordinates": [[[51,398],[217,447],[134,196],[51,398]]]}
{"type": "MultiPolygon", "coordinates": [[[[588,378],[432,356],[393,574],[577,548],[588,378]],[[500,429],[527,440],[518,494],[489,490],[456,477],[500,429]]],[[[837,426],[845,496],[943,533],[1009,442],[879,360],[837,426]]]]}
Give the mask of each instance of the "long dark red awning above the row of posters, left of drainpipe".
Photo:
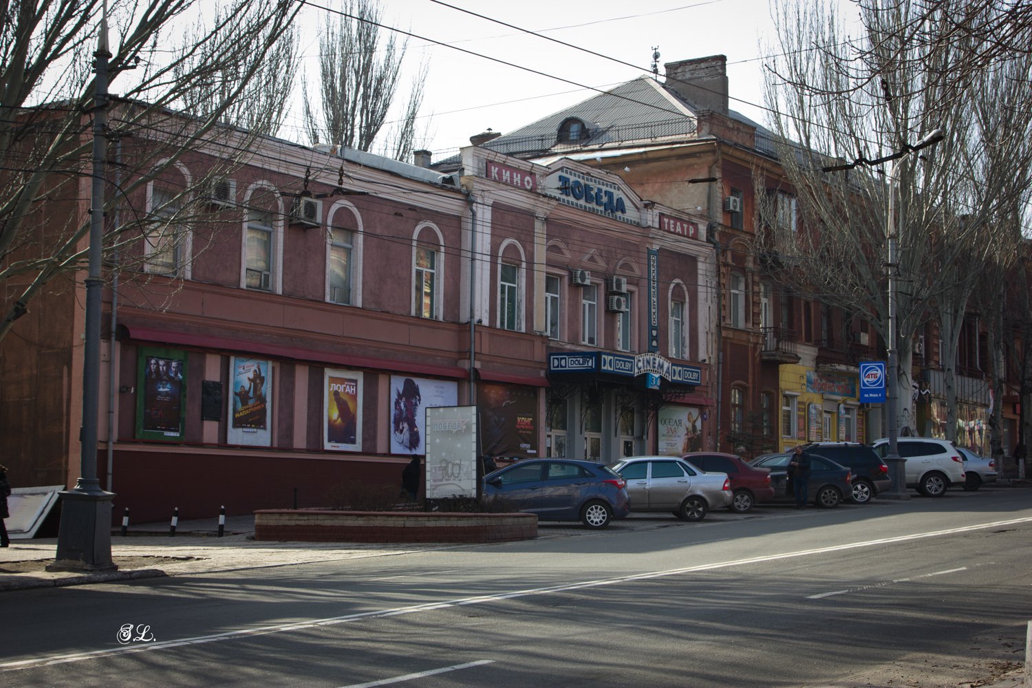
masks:
{"type": "MultiPolygon", "coordinates": [[[[417,363],[413,360],[392,360],[374,356],[356,356],[342,352],[319,351],[302,347],[285,347],[268,341],[249,341],[234,337],[201,334],[175,330],[161,330],[137,325],[123,325],[130,339],[153,341],[159,343],[179,345],[181,347],[197,347],[198,349],[215,349],[218,351],[260,354],[276,358],[289,358],[308,361],[316,364],[333,364],[352,368],[373,368],[393,370],[395,372],[438,375],[441,378],[466,379],[465,368],[457,365],[436,365],[432,363],[417,363]]],[[[524,383],[527,384],[527,383],[524,383]]]]}

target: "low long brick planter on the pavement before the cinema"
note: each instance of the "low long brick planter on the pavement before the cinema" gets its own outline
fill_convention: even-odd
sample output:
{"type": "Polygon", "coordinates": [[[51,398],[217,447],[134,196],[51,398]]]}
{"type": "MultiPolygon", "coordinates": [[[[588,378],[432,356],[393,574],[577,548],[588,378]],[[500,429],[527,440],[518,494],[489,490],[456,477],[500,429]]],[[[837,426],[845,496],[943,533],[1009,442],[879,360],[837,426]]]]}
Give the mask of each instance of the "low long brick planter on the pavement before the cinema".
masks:
{"type": "Polygon", "coordinates": [[[255,512],[255,539],[304,543],[507,543],[538,536],[534,514],[255,512]]]}

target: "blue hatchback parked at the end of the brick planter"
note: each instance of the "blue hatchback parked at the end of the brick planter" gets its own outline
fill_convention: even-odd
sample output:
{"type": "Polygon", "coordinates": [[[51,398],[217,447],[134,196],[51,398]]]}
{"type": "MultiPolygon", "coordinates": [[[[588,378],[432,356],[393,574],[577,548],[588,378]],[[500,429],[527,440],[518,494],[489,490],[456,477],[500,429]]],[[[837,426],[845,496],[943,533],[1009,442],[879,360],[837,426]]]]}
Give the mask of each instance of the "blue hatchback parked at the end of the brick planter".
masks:
{"type": "Polygon", "coordinates": [[[626,482],[608,466],[577,459],[524,459],[484,476],[484,496],[537,514],[605,528],[630,513],[626,482]]]}

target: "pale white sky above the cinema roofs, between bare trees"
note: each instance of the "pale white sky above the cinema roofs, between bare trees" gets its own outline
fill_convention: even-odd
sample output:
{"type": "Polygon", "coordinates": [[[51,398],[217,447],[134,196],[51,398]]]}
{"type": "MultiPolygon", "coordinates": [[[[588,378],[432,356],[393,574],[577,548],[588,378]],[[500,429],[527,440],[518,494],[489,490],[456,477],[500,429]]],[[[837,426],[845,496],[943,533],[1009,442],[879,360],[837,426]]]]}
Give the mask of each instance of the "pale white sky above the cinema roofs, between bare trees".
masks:
{"type": "MultiPolygon", "coordinates": [[[[322,7],[341,8],[338,0],[315,1],[322,7]]],[[[431,151],[434,160],[469,145],[470,136],[488,128],[508,133],[584,100],[595,93],[588,87],[604,91],[650,73],[653,46],[660,54],[660,77],[665,62],[725,55],[731,108],[757,122],[767,121],[760,107],[760,57],[765,45],[775,44],[768,0],[443,1],[489,19],[432,0],[381,0],[384,24],[424,37],[409,38],[407,60],[410,71],[422,60],[429,64],[422,110],[428,116],[423,120],[428,135],[419,144],[431,151]]],[[[327,17],[334,14],[319,6],[304,9],[301,51],[305,56],[318,54],[319,26],[327,17]]],[[[311,77],[317,74],[314,63],[308,69],[311,77]]],[[[300,88],[295,93],[298,98],[300,88]]],[[[281,136],[308,142],[296,120],[288,121],[281,136]]]]}

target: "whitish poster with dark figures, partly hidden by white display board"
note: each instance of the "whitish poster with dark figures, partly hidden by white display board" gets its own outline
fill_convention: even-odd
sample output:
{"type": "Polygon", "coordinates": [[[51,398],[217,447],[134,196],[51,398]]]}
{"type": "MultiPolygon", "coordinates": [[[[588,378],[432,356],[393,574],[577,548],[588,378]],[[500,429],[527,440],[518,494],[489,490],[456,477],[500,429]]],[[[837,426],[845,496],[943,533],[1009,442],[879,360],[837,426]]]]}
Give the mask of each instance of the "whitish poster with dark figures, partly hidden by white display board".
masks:
{"type": "Polygon", "coordinates": [[[426,454],[426,409],[458,404],[458,383],[391,375],[391,454],[426,454]]]}

